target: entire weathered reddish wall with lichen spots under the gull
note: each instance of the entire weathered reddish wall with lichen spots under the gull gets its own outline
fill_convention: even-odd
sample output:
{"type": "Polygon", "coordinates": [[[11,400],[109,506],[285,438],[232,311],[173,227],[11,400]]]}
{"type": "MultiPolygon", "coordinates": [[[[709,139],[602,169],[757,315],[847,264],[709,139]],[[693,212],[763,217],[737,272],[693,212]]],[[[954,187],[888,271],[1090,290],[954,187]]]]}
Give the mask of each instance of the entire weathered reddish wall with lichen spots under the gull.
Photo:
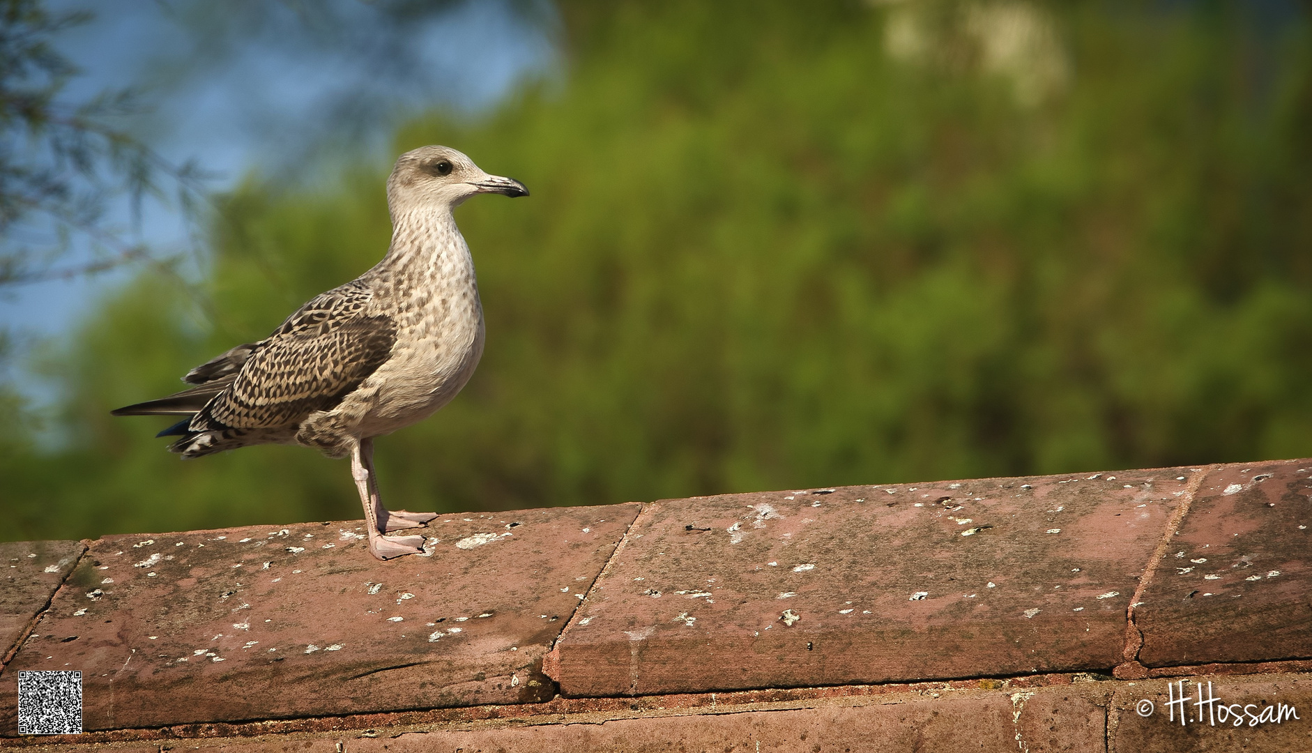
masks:
{"type": "Polygon", "coordinates": [[[451,514],[388,563],[359,521],[0,544],[0,746],[1312,750],[1309,476],[451,514]],[[85,733],[17,736],[30,669],[85,733]]]}

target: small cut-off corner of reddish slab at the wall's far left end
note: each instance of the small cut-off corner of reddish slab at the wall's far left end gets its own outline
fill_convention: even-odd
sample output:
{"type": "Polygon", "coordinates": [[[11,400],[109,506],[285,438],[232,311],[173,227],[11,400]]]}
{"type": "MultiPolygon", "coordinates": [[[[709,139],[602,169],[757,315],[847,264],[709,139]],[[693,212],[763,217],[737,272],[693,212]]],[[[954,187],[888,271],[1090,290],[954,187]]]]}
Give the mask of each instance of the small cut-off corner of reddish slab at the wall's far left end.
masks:
{"type": "Polygon", "coordinates": [[[87,548],[81,542],[0,543],[0,659],[9,656],[28,626],[73,569],[87,548]]]}

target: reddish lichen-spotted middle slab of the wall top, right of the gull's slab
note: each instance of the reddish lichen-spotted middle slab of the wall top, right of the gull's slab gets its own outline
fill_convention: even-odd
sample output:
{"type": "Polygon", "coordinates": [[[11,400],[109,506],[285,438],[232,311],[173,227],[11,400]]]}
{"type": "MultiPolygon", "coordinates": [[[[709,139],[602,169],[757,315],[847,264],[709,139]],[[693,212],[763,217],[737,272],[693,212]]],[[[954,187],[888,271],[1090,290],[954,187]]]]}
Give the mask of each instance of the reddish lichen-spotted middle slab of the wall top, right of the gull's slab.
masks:
{"type": "Polygon", "coordinates": [[[548,673],[584,697],[1109,669],[1186,476],[655,502],[548,673]]]}

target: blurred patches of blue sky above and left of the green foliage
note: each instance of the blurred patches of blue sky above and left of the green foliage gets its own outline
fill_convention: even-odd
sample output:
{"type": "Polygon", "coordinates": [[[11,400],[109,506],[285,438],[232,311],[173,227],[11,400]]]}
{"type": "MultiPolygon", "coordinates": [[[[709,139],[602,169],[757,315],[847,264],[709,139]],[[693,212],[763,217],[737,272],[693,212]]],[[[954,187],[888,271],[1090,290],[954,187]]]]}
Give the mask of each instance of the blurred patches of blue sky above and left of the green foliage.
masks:
{"type": "MultiPolygon", "coordinates": [[[[466,0],[388,26],[379,22],[377,3],[361,0],[304,5],[328,18],[319,22],[298,14],[290,0],[224,3],[219,12],[237,9],[224,20],[245,8],[249,26],[239,18],[214,33],[206,18],[197,18],[215,12],[206,5],[49,3],[52,10],[96,14],[56,39],[81,70],[63,98],[80,102],[105,89],[140,87],[150,110],[129,121],[134,132],[173,163],[197,160],[215,176],[209,185],[219,192],[248,171],[270,174],[312,163],[314,143],[344,138],[332,123],[350,122],[346,138],[390,161],[395,155],[387,153],[388,136],[407,113],[487,109],[526,76],[546,75],[555,62],[546,5],[529,5],[538,13],[533,21],[522,3],[517,12],[509,1],[466,0]],[[346,112],[352,108],[356,112],[346,112]]],[[[148,201],[134,222],[129,203],[118,201],[108,219],[161,256],[190,243],[176,207],[148,201]]],[[[58,337],[130,274],[122,269],[12,289],[0,294],[0,325],[25,338],[58,337]]]]}

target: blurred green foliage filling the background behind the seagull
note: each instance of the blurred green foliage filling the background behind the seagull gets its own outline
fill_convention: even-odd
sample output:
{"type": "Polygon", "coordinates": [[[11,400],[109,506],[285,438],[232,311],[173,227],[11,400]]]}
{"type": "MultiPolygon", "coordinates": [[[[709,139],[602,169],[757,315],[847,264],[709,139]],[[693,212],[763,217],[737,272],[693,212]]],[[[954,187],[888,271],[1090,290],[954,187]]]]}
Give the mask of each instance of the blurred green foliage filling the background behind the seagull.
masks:
{"type": "MultiPolygon", "coordinates": [[[[1172,8],[565,5],[562,80],[398,135],[533,197],[458,210],[488,348],[379,441],[384,499],[1312,455],[1307,18],[1172,8]]],[[[0,460],[4,535],[358,516],[342,463],[181,463],[106,415],[380,256],[386,171],[342,176],[227,199],[210,324],[151,274],[105,302],[58,359],[68,446],[0,460]]]]}

